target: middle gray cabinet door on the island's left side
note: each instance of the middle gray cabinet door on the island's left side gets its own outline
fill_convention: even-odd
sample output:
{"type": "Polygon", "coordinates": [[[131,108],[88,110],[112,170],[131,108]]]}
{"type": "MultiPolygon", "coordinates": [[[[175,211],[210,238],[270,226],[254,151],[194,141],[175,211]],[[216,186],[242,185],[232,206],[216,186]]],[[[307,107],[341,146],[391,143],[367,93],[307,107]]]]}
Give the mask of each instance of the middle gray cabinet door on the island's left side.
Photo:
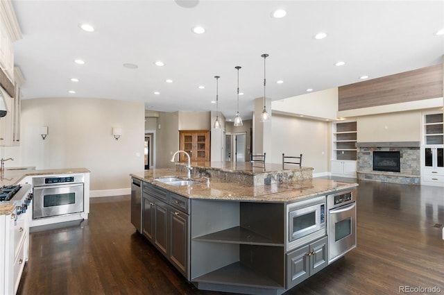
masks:
{"type": "Polygon", "coordinates": [[[168,257],[168,207],[166,203],[154,201],[154,245],[168,257]]]}

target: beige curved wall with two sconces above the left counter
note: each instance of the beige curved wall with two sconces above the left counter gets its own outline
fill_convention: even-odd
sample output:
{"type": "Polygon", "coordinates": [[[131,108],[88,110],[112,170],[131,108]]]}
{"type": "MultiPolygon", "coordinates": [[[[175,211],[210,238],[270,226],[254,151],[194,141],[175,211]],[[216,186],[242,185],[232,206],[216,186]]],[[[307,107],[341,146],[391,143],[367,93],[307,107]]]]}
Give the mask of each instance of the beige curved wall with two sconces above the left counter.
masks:
{"type": "Polygon", "coordinates": [[[22,101],[20,146],[3,147],[10,166],[85,167],[92,190],[130,187],[144,169],[144,103],[111,99],[51,98],[22,101]],[[37,130],[48,126],[42,140],[37,130]],[[112,127],[123,130],[114,140],[112,127]]]}

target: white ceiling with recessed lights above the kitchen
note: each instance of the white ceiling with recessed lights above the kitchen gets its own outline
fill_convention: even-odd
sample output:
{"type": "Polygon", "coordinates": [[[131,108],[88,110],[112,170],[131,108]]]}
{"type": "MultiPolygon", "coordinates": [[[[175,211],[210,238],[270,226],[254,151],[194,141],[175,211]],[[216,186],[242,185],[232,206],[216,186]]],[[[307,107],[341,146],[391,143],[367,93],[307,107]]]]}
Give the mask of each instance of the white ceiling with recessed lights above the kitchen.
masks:
{"type": "Polygon", "coordinates": [[[266,96],[273,100],[356,83],[363,75],[371,79],[436,65],[444,53],[444,36],[434,35],[444,28],[444,1],[13,0],[13,5],[23,34],[15,42],[15,65],[26,78],[24,99],[74,96],[144,101],[146,109],[165,112],[216,110],[211,101],[219,75],[219,110],[232,119],[239,65],[244,92],[239,110],[247,119],[254,99],[264,93],[262,53],[270,55],[266,96]],[[182,7],[189,3],[197,5],[182,7]],[[287,16],[271,17],[276,8],[287,16]],[[80,30],[84,22],[96,31],[80,30]],[[206,32],[193,33],[196,25],[206,32]],[[319,32],[328,35],[315,40],[319,32]],[[76,65],[76,58],[85,65],[76,65]],[[155,66],[157,60],[164,67],[155,66]],[[345,65],[336,67],[339,60],[345,65]]]}

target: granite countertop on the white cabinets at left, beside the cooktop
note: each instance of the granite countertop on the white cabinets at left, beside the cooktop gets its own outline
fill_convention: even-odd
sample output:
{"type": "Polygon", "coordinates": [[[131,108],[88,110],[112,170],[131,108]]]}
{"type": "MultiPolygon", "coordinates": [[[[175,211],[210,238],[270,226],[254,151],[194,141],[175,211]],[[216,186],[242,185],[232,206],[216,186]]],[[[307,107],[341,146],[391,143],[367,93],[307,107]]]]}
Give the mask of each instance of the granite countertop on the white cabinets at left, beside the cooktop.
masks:
{"type": "MultiPolygon", "coordinates": [[[[76,174],[89,173],[86,168],[68,168],[68,169],[44,169],[35,170],[35,167],[7,167],[3,177],[0,178],[0,186],[17,185],[26,176],[56,175],[56,174],[76,174]]],[[[0,215],[10,214],[15,208],[15,203],[0,202],[0,215]]]]}

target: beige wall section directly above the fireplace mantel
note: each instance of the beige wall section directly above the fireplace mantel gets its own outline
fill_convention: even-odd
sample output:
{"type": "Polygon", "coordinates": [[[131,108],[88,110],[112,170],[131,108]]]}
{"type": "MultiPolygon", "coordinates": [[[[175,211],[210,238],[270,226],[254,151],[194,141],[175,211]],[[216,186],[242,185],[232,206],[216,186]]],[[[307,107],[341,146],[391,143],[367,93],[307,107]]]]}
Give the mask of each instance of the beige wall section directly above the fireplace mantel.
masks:
{"type": "Polygon", "coordinates": [[[358,142],[419,142],[421,112],[394,112],[357,118],[358,142]]]}

